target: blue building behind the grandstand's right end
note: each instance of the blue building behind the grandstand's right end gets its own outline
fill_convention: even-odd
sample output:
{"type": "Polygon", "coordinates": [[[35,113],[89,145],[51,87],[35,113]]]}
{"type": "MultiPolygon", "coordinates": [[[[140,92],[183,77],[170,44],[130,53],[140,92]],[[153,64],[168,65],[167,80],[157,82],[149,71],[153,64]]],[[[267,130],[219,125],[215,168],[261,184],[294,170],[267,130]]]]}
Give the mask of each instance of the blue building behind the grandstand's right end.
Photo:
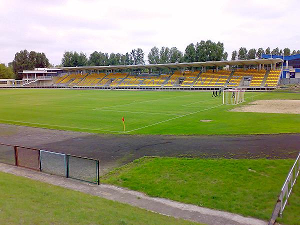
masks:
{"type": "Polygon", "coordinates": [[[261,54],[261,58],[281,58],[283,59],[283,71],[280,78],[281,83],[300,83],[300,54],[277,55],[261,54]]]}

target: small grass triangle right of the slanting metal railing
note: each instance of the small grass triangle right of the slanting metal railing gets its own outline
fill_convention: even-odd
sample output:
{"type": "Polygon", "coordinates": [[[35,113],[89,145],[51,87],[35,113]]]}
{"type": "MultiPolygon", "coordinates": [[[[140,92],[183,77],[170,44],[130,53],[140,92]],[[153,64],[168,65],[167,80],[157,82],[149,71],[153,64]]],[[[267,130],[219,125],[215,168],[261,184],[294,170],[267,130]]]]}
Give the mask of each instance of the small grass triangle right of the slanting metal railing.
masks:
{"type": "Polygon", "coordinates": [[[277,221],[281,224],[300,225],[300,184],[299,178],[292,188],[291,195],[288,198],[288,204],[285,206],[282,218],[277,221]]]}

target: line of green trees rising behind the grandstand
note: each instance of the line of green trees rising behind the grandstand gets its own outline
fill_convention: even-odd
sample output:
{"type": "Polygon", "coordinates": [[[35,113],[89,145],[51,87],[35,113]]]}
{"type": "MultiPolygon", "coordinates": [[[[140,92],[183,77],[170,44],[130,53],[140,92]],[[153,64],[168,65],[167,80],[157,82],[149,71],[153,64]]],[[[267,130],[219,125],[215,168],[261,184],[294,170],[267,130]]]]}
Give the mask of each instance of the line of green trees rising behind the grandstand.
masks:
{"type": "MultiPolygon", "coordinates": [[[[280,49],[278,47],[270,50],[259,47],[257,50],[251,48],[247,50],[240,47],[232,51],[231,60],[235,59],[253,59],[260,58],[261,54],[277,54],[291,55],[300,54],[300,50],[291,50],[288,47],[280,49]]],[[[158,63],[178,63],[178,62],[194,62],[194,61],[219,61],[227,60],[228,53],[224,51],[224,44],[220,41],[213,42],[211,40],[201,40],[200,42],[190,43],[181,52],[177,47],[162,46],[160,49],[153,46],[148,55],[147,62],[149,64],[158,63]]],[[[93,51],[88,57],[84,52],[65,51],[61,58],[59,66],[96,66],[96,65],[136,65],[145,64],[145,54],[141,48],[132,49],[125,54],[107,53],[101,51],[93,51]]],[[[0,78],[20,78],[18,72],[22,70],[32,70],[35,67],[54,67],[49,63],[44,52],[35,52],[21,50],[16,52],[14,60],[8,63],[8,66],[0,64],[0,78]],[[12,71],[12,72],[11,72],[12,71]]]]}

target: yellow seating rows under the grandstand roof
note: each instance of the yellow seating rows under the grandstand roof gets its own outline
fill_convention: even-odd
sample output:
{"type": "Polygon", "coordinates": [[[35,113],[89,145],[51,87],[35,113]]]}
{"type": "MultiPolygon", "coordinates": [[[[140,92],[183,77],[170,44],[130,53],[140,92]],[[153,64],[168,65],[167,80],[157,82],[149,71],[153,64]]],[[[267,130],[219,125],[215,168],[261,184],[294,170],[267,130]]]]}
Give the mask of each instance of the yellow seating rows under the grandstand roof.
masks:
{"type": "MultiPolygon", "coordinates": [[[[266,76],[266,70],[261,69],[237,69],[230,76],[229,70],[207,70],[200,73],[194,71],[174,71],[172,74],[161,74],[159,76],[143,76],[128,73],[72,73],[58,78],[56,83],[68,83],[70,86],[261,86],[266,76]],[[230,77],[230,79],[229,79],[230,77]],[[248,80],[246,78],[249,78],[248,80]],[[179,81],[182,82],[180,83],[179,81]],[[242,82],[242,80],[244,82],[242,82]]],[[[280,70],[270,70],[266,77],[265,85],[276,86],[280,70]]]]}

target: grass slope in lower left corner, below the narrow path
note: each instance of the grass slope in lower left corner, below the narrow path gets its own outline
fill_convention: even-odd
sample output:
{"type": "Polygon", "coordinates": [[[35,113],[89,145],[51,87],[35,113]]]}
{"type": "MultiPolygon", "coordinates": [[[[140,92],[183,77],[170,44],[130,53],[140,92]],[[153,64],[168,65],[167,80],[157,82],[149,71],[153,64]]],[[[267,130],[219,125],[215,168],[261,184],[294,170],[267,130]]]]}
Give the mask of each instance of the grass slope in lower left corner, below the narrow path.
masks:
{"type": "Polygon", "coordinates": [[[0,172],[0,224],[194,224],[0,172]]]}

